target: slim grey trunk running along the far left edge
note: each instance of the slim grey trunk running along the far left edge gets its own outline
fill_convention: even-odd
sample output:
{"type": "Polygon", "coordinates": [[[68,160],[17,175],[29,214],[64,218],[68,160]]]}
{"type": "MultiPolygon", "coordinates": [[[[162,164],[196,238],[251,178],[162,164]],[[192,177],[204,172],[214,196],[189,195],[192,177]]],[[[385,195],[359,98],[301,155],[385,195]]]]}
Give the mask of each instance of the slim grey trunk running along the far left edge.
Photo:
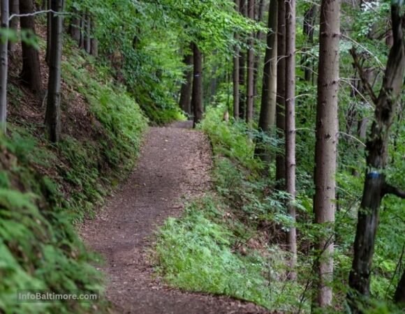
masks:
{"type": "MultiPolygon", "coordinates": [[[[8,29],[10,15],[8,0],[1,0],[1,29],[8,29]]],[[[0,38],[0,124],[6,134],[7,119],[7,75],[8,75],[8,38],[0,38]]]]}

